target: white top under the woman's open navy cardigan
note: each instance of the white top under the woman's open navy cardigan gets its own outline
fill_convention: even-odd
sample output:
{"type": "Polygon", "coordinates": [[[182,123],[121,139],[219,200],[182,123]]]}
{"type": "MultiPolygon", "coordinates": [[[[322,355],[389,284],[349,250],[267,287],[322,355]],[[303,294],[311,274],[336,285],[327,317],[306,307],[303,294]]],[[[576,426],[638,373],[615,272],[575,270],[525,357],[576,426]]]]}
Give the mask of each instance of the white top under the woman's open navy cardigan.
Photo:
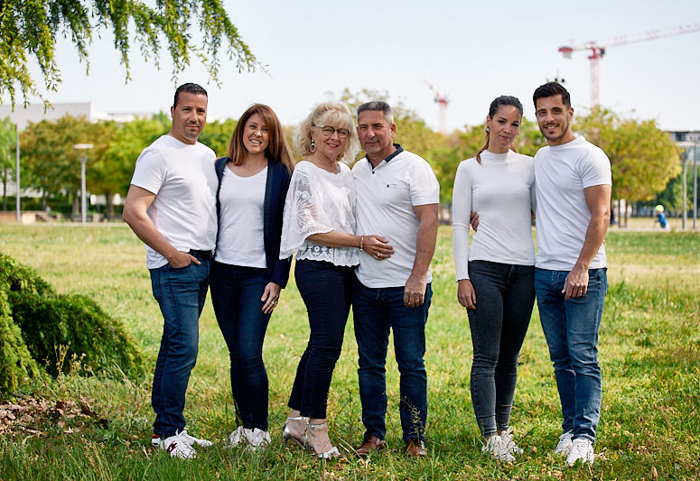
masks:
{"type": "Polygon", "coordinates": [[[265,269],[263,208],[267,167],[240,177],[227,165],[219,190],[219,238],[214,259],[223,264],[265,269]]]}

